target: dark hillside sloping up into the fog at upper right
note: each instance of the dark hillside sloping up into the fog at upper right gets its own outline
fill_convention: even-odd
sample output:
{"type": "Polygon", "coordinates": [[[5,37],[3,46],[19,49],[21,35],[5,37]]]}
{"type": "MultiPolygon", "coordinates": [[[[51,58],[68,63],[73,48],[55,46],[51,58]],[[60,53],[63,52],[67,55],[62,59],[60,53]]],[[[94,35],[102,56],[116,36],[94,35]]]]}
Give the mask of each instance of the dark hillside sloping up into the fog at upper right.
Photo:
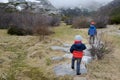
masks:
{"type": "Polygon", "coordinates": [[[120,24],[120,0],[113,0],[97,11],[97,18],[103,23],[120,24]]]}

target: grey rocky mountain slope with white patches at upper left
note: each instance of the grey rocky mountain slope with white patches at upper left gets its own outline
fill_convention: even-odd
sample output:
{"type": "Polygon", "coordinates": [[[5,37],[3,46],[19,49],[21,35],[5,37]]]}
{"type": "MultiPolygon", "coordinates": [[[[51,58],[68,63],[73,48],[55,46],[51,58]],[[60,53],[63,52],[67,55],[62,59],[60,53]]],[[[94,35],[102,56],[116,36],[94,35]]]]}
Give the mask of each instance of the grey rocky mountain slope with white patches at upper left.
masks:
{"type": "Polygon", "coordinates": [[[29,10],[33,13],[57,14],[57,9],[48,0],[9,0],[4,8],[12,8],[18,11],[29,10]]]}

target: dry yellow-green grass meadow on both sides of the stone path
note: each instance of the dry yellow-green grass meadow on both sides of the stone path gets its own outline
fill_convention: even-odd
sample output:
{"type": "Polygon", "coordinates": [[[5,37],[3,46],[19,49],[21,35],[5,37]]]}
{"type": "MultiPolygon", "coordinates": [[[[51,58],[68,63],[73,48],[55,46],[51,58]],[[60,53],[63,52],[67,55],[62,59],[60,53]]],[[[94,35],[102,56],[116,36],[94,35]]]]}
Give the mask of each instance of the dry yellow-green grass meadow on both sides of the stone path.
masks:
{"type": "MultiPolygon", "coordinates": [[[[119,26],[118,26],[119,27],[119,26]]],[[[107,29],[115,34],[116,28],[107,29]]],[[[74,76],[56,77],[53,67],[71,62],[70,59],[51,61],[54,56],[62,56],[63,52],[51,50],[51,46],[72,44],[74,36],[83,36],[83,43],[88,44],[87,29],[72,29],[64,24],[54,28],[55,34],[46,36],[40,41],[39,36],[11,36],[6,30],[0,30],[0,79],[7,80],[73,80],[74,76]]],[[[115,49],[103,60],[93,61],[88,65],[88,80],[119,80],[120,37],[109,34],[114,40],[115,49]],[[112,76],[112,77],[111,77],[112,76]]],[[[79,77],[78,77],[79,78],[79,77]]]]}

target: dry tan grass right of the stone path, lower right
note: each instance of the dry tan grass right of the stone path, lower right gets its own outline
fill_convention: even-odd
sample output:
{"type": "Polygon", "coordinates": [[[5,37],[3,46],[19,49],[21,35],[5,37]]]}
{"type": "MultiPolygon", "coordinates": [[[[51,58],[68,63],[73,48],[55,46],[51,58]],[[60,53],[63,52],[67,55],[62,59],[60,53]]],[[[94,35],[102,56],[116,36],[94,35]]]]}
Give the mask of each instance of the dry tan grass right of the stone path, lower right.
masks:
{"type": "MultiPolygon", "coordinates": [[[[117,28],[110,28],[112,32],[117,28]]],[[[88,65],[89,80],[119,80],[120,79],[120,37],[118,35],[107,34],[104,36],[104,40],[111,43],[108,47],[112,47],[113,51],[105,55],[104,59],[99,61],[93,61],[88,65]]]]}

